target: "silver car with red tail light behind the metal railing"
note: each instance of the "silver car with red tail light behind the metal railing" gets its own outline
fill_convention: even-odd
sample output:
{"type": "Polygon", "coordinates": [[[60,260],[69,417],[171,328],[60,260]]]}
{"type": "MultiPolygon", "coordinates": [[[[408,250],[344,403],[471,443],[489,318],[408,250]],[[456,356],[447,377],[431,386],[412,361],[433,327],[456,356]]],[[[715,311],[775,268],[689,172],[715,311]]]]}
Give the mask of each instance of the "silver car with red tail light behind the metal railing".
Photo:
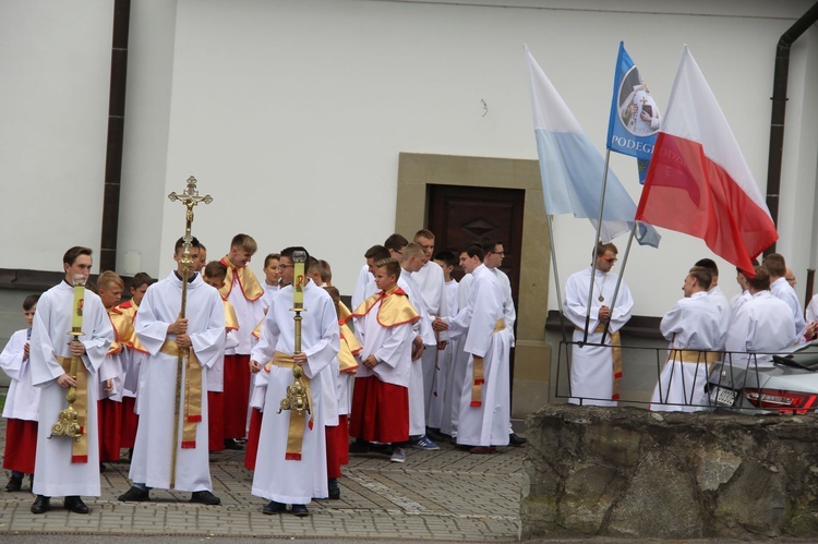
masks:
{"type": "Polygon", "coordinates": [[[818,408],[818,341],[780,354],[725,354],[708,378],[711,409],[802,414],[818,408]]]}

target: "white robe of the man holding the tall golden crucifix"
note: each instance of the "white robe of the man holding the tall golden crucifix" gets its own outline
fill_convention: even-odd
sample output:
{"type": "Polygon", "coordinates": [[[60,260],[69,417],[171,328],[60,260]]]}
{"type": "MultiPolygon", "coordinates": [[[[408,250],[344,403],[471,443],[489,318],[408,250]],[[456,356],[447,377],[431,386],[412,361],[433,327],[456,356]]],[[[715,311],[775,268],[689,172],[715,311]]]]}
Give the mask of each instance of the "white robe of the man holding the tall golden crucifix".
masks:
{"type": "MultiPolygon", "coordinates": [[[[163,353],[160,349],[167,339],[176,338],[168,334],[168,327],[179,316],[181,294],[182,282],[173,271],[148,287],[134,321],[136,336],[151,355],[140,373],[140,424],[130,479],[164,489],[170,487],[178,356],[163,353]]],[[[182,448],[181,412],[188,374],[183,367],[173,488],[213,491],[207,451],[207,370],[225,352],[225,306],[218,291],[205,283],[201,275],[188,283],[187,297],[188,336],[202,365],[202,421],[196,424],[196,447],[182,448]]]]}

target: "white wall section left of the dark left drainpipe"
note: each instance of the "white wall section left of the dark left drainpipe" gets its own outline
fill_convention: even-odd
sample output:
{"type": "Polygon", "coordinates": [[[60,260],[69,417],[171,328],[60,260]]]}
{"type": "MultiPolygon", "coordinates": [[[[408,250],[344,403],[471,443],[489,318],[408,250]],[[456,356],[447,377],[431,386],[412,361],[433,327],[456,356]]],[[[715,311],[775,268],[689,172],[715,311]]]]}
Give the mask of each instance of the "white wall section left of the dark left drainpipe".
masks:
{"type": "Polygon", "coordinates": [[[0,2],[2,268],[99,254],[112,16],[109,0],[0,2]]]}

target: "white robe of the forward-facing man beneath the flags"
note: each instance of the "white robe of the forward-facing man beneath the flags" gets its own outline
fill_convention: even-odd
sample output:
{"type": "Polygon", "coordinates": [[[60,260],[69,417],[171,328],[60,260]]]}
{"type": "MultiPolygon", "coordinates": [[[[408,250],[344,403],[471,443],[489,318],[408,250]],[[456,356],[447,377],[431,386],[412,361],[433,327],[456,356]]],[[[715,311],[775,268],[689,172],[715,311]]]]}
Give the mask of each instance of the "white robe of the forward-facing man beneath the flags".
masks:
{"type": "MultiPolygon", "coordinates": [[[[634,298],[630,295],[625,280],[619,283],[616,302],[610,318],[605,346],[589,346],[601,343],[602,331],[597,331],[601,324],[599,311],[602,305],[611,306],[616,289],[618,276],[614,273],[597,270],[593,275],[593,292],[591,294],[591,315],[588,322],[588,340],[586,344],[572,346],[570,360],[570,392],[569,402],[574,404],[615,407],[613,396],[613,350],[611,335],[618,331],[630,319],[634,309],[634,298]],[[599,300],[600,297],[603,300],[599,300]],[[580,400],[581,399],[581,400],[580,400]]],[[[588,307],[588,289],[591,285],[591,267],[570,275],[565,285],[565,300],[563,312],[574,324],[574,341],[581,342],[585,338],[586,310],[588,307]]],[[[604,326],[604,324],[602,324],[604,326]]]]}

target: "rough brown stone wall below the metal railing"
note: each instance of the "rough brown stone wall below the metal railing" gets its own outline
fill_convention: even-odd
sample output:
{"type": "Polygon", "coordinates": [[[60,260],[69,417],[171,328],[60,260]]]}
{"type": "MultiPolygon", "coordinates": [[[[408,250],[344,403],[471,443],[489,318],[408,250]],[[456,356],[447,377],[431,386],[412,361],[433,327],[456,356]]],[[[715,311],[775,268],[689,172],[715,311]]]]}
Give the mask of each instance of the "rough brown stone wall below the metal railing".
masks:
{"type": "Polygon", "coordinates": [[[524,540],[818,536],[811,414],[565,404],[526,423],[524,540]]]}

